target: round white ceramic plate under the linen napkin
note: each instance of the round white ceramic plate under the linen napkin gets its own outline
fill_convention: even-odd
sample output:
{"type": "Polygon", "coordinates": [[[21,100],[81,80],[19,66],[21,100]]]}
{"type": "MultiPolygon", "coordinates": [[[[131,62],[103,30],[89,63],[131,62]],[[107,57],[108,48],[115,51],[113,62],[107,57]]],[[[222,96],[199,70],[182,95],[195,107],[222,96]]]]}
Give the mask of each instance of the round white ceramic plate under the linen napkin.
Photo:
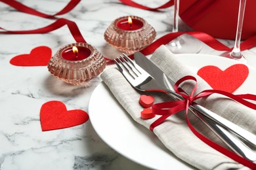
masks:
{"type": "MultiPolygon", "coordinates": [[[[232,59],[205,54],[179,54],[177,58],[194,71],[205,65],[216,65],[224,70],[237,63],[232,59]]],[[[256,93],[253,76],[256,76],[256,71],[249,67],[247,80],[235,93],[256,93]]],[[[91,96],[89,116],[103,141],[130,160],[152,169],[193,169],[167,150],[152,131],[137,124],[103,82],[91,96]]]]}

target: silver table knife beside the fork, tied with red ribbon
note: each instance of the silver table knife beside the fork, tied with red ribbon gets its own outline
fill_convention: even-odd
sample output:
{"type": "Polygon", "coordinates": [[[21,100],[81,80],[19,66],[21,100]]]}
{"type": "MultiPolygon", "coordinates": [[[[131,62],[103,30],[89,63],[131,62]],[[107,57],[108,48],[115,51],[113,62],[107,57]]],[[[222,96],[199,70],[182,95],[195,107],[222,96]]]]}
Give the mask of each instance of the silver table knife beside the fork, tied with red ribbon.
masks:
{"type": "MultiPolygon", "coordinates": [[[[160,68],[158,68],[150,59],[146,58],[140,52],[135,52],[135,62],[142,67],[146,72],[148,72],[151,76],[153,76],[157,81],[158,84],[167,88],[169,90],[173,90],[174,82],[169,78],[160,68]]],[[[209,127],[224,143],[226,143],[234,152],[240,154],[244,158],[248,160],[256,160],[256,154],[251,150],[251,148],[247,147],[242,141],[240,141],[237,135],[240,134],[233,134],[232,132],[228,131],[225,127],[221,127],[209,120],[209,118],[203,117],[198,110],[190,109],[196,117],[198,117],[202,122],[209,127]],[[200,116],[199,116],[200,114],[200,116]]],[[[244,139],[244,137],[242,137],[244,139]]]]}

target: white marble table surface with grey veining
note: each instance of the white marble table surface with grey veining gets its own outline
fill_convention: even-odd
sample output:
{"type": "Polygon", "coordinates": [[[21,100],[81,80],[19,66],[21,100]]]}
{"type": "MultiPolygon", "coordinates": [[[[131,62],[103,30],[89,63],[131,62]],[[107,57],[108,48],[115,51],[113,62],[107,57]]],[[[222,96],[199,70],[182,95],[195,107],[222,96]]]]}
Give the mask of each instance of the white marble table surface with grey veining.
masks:
{"type": "MultiPolygon", "coordinates": [[[[68,3],[68,0],[19,1],[47,14],[54,14],[68,3]]],[[[164,2],[140,3],[156,7],[164,2]]],[[[104,31],[116,18],[127,15],[144,18],[156,29],[156,38],[171,32],[173,8],[156,13],[127,7],[119,1],[81,1],[70,13],[59,17],[76,22],[89,44],[113,58],[120,52],[106,44],[104,31]]],[[[53,22],[18,12],[0,2],[0,27],[5,29],[36,29],[53,22]]],[[[182,31],[188,30],[186,25],[180,26],[182,31]]],[[[233,43],[221,41],[230,46],[233,43]]],[[[68,110],[88,111],[91,93],[101,79],[94,78],[88,86],[69,86],[51,76],[45,66],[16,67],[9,60],[42,45],[49,46],[54,54],[72,42],[75,41],[66,26],[47,34],[0,35],[0,169],[148,169],[105,144],[90,121],[67,129],[41,131],[39,110],[43,103],[57,100],[65,103],[68,110]]],[[[203,46],[200,53],[221,54],[207,46],[203,46]]]]}

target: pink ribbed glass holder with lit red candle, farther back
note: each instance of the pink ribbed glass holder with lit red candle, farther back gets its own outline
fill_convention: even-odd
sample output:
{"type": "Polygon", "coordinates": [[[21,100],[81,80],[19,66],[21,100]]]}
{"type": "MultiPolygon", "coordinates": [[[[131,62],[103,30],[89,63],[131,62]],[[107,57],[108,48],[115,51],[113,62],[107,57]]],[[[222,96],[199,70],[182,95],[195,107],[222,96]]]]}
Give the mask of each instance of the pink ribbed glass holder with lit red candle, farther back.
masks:
{"type": "Polygon", "coordinates": [[[104,33],[104,39],[121,52],[133,54],[145,48],[156,37],[155,29],[143,18],[130,16],[117,18],[104,33]]]}

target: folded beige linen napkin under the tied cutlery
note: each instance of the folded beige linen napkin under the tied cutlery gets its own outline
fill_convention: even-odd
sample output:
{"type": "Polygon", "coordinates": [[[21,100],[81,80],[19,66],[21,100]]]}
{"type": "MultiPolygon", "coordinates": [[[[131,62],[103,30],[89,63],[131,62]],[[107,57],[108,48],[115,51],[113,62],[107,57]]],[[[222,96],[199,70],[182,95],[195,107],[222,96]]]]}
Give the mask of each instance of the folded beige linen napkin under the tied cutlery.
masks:
{"type": "MultiPolygon", "coordinates": [[[[198,77],[196,73],[190,71],[185,65],[179,62],[174,54],[172,54],[165,46],[160,46],[152,58],[150,58],[161,70],[174,81],[179,80],[182,76],[192,75],[198,79],[197,92],[210,89],[209,85],[198,77]]],[[[117,101],[123,106],[125,110],[132,116],[132,118],[149,129],[150,124],[158,118],[150,120],[142,120],[140,112],[142,107],[139,105],[140,93],[131,87],[131,85],[123,78],[116,68],[107,69],[101,75],[104,83],[110,88],[111,92],[116,97],[117,101]]],[[[182,88],[187,91],[191,90],[189,84],[185,84],[182,88]]],[[[165,101],[168,97],[165,94],[151,93],[154,95],[156,101],[159,103],[165,101]]],[[[216,112],[217,114],[227,118],[228,120],[244,127],[245,129],[256,133],[256,111],[248,109],[230,99],[223,99],[223,96],[213,95],[207,99],[197,101],[207,109],[216,112]]],[[[155,127],[154,133],[158,136],[165,146],[171,150],[178,158],[198,169],[247,169],[244,165],[231,160],[220,152],[217,152],[207,144],[198,139],[186,124],[184,112],[179,112],[169,117],[163,124],[155,127]]],[[[197,118],[191,118],[193,125],[203,127],[197,118]]],[[[209,129],[203,127],[202,133],[209,138],[219,143],[219,139],[213,135],[209,129]]]]}

